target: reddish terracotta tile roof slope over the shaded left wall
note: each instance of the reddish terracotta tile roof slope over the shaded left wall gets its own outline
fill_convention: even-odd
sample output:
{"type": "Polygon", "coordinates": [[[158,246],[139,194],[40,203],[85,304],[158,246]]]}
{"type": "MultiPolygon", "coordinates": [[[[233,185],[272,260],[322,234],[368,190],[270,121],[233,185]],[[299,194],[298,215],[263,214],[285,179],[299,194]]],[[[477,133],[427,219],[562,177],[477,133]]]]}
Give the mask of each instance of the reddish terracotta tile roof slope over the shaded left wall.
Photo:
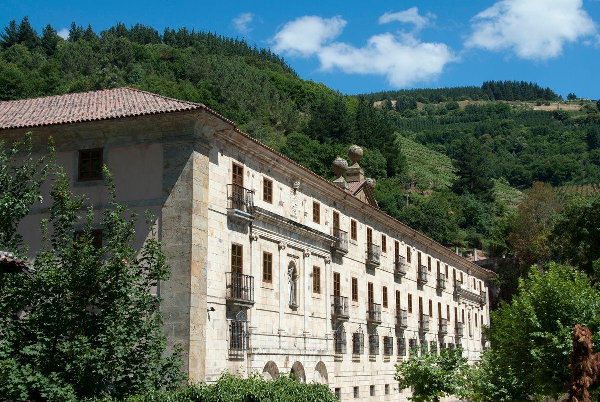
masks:
{"type": "Polygon", "coordinates": [[[206,109],[206,106],[136,88],[111,88],[0,102],[0,130],[194,109],[206,109]]]}

